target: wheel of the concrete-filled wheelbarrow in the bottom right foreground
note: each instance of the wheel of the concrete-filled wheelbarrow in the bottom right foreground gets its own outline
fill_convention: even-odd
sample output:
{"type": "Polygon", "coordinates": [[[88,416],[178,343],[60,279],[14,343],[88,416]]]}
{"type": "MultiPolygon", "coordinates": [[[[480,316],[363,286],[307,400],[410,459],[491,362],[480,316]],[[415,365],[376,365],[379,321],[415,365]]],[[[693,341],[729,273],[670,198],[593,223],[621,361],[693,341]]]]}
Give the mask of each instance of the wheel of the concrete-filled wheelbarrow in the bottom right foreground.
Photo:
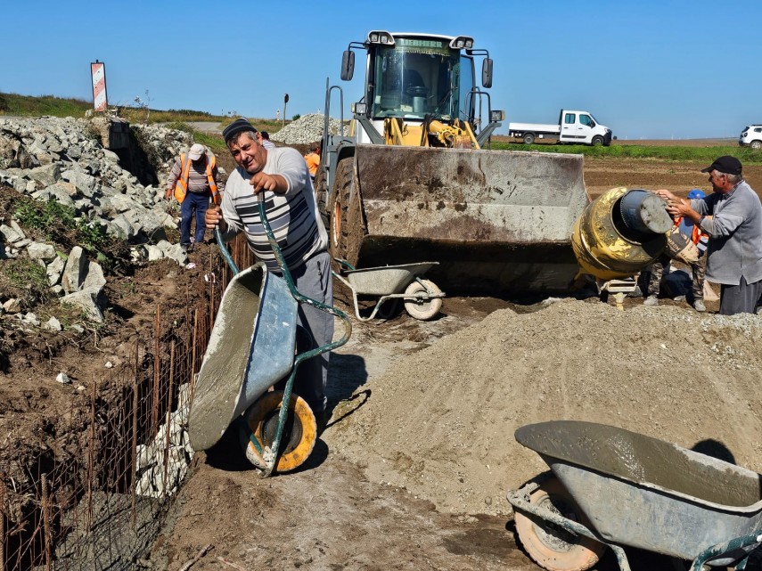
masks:
{"type": "MultiPolygon", "coordinates": [[[[589,526],[577,502],[556,477],[548,477],[530,496],[529,502],[564,518],[589,526]]],[[[571,534],[542,519],[531,519],[516,511],[516,533],[529,557],[549,571],[584,571],[601,558],[606,546],[589,537],[571,534]]]]}

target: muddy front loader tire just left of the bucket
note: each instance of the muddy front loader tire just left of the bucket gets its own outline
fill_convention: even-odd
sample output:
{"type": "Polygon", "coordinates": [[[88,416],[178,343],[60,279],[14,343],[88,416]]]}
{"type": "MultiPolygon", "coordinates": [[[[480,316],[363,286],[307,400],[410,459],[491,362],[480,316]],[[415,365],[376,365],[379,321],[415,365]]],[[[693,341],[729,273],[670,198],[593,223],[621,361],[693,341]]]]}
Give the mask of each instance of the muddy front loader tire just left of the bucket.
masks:
{"type": "Polygon", "coordinates": [[[354,158],[341,159],[333,184],[330,252],[332,258],[357,266],[363,240],[362,203],[358,192],[352,192],[354,158]]]}

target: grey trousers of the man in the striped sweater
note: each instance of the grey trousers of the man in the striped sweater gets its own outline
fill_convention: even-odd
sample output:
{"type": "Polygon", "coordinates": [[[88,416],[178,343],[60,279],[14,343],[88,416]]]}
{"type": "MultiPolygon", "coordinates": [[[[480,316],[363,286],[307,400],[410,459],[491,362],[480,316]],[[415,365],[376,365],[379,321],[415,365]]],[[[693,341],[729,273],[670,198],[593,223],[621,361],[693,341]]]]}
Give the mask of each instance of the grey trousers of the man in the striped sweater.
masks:
{"type": "MultiPolygon", "coordinates": [[[[294,286],[307,298],[315,299],[325,305],[333,305],[333,277],[331,275],[331,256],[320,252],[307,262],[291,271],[294,286]]],[[[304,353],[315,347],[328,345],[333,340],[333,315],[320,311],[307,304],[299,304],[297,324],[309,332],[297,331],[297,351],[304,353]]],[[[294,379],[294,392],[307,401],[315,414],[324,412],[328,399],[325,385],[328,380],[328,356],[330,352],[302,361],[294,379]]],[[[275,388],[283,390],[285,380],[275,388]]]]}

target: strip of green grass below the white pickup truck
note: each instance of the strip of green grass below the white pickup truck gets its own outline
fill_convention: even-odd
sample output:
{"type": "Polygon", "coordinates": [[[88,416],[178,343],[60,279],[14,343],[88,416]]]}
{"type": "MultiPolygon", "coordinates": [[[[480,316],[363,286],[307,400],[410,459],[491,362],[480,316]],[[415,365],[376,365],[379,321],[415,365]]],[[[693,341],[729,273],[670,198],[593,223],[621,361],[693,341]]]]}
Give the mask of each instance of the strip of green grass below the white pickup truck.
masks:
{"type": "Polygon", "coordinates": [[[610,147],[589,147],[587,145],[523,144],[493,142],[492,149],[501,151],[540,151],[571,152],[586,157],[616,157],[617,159],[662,159],[692,162],[706,162],[708,165],[720,155],[733,155],[744,165],[762,165],[762,153],[748,147],[731,146],[657,146],[657,145],[620,145],[616,142],[610,147]]]}

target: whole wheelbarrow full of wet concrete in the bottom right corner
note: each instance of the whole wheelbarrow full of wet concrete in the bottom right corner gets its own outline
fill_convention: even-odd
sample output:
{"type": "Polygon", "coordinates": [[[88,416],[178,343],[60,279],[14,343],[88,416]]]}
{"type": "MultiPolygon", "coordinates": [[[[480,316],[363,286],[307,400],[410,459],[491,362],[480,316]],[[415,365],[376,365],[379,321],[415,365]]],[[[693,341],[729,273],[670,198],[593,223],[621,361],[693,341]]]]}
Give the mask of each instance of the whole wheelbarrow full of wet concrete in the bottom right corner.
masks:
{"type": "Polygon", "coordinates": [[[656,438],[558,420],[516,430],[553,476],[508,492],[528,554],[553,571],[592,567],[606,546],[743,569],[762,542],[762,477],[656,438]]]}

